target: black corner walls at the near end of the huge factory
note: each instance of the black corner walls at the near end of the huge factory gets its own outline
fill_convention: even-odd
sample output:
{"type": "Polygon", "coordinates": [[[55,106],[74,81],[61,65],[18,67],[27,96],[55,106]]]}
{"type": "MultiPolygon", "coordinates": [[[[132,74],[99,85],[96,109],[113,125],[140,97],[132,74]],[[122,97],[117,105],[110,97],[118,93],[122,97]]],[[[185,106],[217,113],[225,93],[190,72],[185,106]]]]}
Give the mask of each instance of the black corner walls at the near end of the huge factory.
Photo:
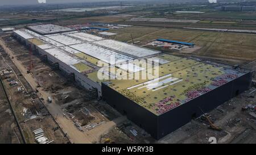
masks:
{"type": "Polygon", "coordinates": [[[159,116],[119,94],[107,83],[102,83],[102,98],[121,114],[126,115],[129,120],[150,133],[156,140],[159,140],[187,124],[192,118],[203,115],[202,110],[209,112],[247,90],[251,85],[251,78],[252,73],[247,72],[243,76],[159,116]]]}

